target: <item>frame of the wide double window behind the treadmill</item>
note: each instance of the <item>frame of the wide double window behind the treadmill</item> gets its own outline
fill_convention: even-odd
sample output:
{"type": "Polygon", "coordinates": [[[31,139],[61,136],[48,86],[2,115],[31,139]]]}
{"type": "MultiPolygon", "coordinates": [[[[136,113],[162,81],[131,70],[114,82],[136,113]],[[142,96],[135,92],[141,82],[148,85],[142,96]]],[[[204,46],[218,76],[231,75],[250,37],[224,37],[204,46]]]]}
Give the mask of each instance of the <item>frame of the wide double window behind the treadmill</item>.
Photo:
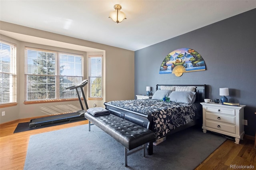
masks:
{"type": "MultiPolygon", "coordinates": [[[[25,62],[25,71],[24,71],[24,75],[25,75],[25,101],[24,101],[24,104],[35,104],[35,103],[52,103],[52,102],[62,102],[62,101],[77,101],[78,100],[78,97],[76,95],[76,97],[70,97],[70,98],[58,98],[58,95],[59,95],[59,90],[60,90],[60,83],[56,83],[58,82],[58,80],[60,80],[60,77],[80,77],[82,80],[84,79],[84,55],[82,54],[77,54],[77,53],[70,53],[70,52],[65,52],[65,51],[56,51],[56,50],[49,50],[49,49],[41,49],[41,48],[35,48],[35,47],[25,47],[25,59],[24,59],[24,62],[25,62]],[[31,73],[28,73],[28,57],[27,57],[27,50],[35,50],[35,51],[44,51],[44,52],[50,52],[50,53],[56,53],[56,59],[55,59],[55,73],[54,73],[54,77],[55,78],[55,98],[54,99],[36,99],[36,100],[28,100],[27,99],[27,94],[28,94],[28,84],[27,84],[27,76],[28,75],[33,75],[31,73]],[[81,73],[82,75],[81,76],[73,76],[73,75],[61,75],[60,73],[60,56],[61,55],[74,55],[74,56],[78,56],[78,57],[81,57],[81,73]]],[[[46,75],[46,76],[49,76],[49,75],[46,75]]],[[[52,75],[50,75],[52,76],[52,75]]],[[[74,84],[75,85],[75,84],[74,84]]],[[[74,90],[73,90],[74,91],[74,90]]],[[[83,100],[83,98],[82,98],[83,100]]]]}

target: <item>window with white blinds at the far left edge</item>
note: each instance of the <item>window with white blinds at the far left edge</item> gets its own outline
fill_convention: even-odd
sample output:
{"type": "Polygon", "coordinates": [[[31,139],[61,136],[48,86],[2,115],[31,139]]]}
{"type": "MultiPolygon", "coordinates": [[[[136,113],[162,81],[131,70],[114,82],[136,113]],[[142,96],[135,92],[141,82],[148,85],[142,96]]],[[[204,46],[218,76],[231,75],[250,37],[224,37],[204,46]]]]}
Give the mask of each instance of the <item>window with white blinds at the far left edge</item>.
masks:
{"type": "Polygon", "coordinates": [[[0,41],[0,104],[16,103],[16,45],[0,41]]]}

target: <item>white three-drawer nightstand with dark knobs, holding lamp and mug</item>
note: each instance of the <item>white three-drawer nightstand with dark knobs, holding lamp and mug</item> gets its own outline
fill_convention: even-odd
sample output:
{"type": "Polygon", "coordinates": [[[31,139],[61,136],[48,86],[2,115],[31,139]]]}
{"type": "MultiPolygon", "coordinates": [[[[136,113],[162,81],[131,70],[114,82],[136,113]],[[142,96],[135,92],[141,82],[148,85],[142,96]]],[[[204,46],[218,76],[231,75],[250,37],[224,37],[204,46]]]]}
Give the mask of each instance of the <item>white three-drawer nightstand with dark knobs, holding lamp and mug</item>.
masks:
{"type": "Polygon", "coordinates": [[[207,130],[235,137],[239,144],[244,137],[244,107],[217,103],[200,103],[203,106],[203,132],[207,130]]]}

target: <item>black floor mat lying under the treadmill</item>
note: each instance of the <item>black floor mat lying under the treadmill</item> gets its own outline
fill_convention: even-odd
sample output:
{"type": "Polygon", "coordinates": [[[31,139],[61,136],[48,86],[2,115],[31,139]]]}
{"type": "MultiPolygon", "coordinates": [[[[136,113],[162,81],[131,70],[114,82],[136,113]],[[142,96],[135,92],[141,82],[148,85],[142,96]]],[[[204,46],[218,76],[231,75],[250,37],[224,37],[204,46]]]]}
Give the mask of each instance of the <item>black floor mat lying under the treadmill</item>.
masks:
{"type": "Polygon", "coordinates": [[[59,123],[54,123],[54,124],[49,124],[49,125],[42,125],[40,127],[29,127],[30,122],[24,122],[24,123],[19,123],[16,127],[16,129],[14,130],[13,133],[18,133],[18,132],[24,132],[24,131],[28,131],[28,130],[34,130],[34,129],[39,129],[39,128],[45,128],[45,127],[53,127],[56,125],[64,125],[67,123],[72,123],[72,122],[78,122],[78,121],[84,121],[87,119],[82,119],[82,120],[77,120],[77,121],[65,121],[65,122],[59,122],[59,123]]]}

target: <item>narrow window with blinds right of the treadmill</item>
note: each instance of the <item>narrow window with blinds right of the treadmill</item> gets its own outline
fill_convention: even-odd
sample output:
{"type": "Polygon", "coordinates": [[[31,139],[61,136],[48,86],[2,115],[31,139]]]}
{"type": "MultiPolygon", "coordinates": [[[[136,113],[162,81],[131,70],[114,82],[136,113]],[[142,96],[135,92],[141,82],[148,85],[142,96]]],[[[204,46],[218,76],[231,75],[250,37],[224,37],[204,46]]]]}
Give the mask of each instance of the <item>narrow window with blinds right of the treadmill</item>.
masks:
{"type": "Polygon", "coordinates": [[[89,99],[102,99],[102,55],[88,57],[89,99]]]}

